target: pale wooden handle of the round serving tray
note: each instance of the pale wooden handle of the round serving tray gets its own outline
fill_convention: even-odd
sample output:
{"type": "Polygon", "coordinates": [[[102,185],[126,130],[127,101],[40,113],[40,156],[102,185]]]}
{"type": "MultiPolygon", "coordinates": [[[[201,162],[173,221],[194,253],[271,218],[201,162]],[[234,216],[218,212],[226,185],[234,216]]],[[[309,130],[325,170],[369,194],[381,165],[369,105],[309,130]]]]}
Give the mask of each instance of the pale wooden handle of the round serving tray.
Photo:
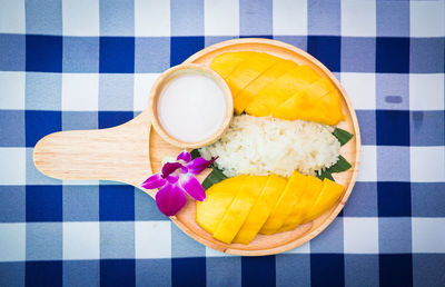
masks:
{"type": "Polygon", "coordinates": [[[33,161],[43,175],[58,179],[117,180],[138,187],[151,175],[150,117],[108,129],[60,131],[37,142],[33,161]]]}

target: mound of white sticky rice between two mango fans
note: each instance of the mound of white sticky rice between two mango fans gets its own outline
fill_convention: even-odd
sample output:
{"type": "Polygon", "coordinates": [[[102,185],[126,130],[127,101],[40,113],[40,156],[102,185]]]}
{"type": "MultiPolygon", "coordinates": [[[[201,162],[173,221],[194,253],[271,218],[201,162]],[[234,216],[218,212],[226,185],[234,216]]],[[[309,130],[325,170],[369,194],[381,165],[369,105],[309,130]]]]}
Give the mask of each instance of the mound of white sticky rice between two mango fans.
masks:
{"type": "Polygon", "coordinates": [[[340,142],[333,130],[310,121],[241,115],[234,117],[218,141],[199,152],[206,159],[219,156],[216,165],[228,177],[289,177],[294,170],[316,175],[338,160],[340,142]]]}

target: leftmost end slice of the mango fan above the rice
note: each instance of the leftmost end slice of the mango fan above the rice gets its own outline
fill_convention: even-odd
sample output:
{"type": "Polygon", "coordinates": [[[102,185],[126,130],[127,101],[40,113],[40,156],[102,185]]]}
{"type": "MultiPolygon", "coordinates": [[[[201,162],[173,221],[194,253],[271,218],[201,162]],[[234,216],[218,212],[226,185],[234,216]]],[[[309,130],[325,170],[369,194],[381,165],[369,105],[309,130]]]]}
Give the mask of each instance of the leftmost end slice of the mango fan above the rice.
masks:
{"type": "Polygon", "coordinates": [[[226,79],[238,65],[249,59],[253,55],[255,52],[225,52],[211,60],[210,68],[226,79]]]}

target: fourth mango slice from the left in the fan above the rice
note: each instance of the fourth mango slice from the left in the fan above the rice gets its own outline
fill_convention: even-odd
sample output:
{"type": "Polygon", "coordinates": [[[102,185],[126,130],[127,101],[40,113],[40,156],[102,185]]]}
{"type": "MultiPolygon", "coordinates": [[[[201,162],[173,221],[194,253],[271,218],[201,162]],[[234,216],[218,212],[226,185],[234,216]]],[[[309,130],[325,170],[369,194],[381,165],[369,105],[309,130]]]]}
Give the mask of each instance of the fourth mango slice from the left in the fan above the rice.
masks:
{"type": "Polygon", "coordinates": [[[257,117],[270,116],[276,107],[294,93],[305,90],[319,78],[320,76],[310,67],[298,66],[264,88],[247,106],[246,111],[257,117]]]}

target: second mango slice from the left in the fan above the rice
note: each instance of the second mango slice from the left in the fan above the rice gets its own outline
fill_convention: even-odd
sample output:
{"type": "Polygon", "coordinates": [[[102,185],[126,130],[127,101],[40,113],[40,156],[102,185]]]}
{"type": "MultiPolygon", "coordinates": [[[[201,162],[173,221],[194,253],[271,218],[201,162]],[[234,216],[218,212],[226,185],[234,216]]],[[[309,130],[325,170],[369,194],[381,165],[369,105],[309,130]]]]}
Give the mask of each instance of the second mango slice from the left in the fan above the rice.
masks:
{"type": "Polygon", "coordinates": [[[238,65],[238,67],[226,78],[234,99],[237,98],[238,93],[249,85],[250,81],[255,80],[259,75],[279,60],[278,57],[264,52],[256,52],[246,61],[238,65]]]}

